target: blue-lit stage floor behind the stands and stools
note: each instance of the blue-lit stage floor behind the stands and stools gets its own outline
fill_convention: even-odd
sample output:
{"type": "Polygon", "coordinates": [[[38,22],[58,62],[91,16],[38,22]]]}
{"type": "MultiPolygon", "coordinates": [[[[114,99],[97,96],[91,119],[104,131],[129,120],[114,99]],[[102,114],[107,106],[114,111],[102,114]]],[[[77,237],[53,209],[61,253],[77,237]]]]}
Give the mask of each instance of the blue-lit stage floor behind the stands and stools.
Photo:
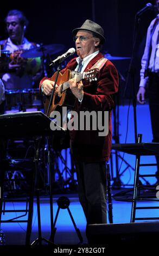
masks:
{"type": "MultiPolygon", "coordinates": [[[[113,194],[119,193],[121,191],[113,191],[113,194]]],[[[124,191],[123,191],[124,192],[124,191]]],[[[58,210],[58,205],[56,200],[59,197],[66,196],[70,200],[69,209],[71,210],[72,216],[74,218],[77,228],[79,228],[84,243],[87,243],[85,228],[86,219],[82,211],[81,205],[78,200],[77,193],[69,194],[54,194],[53,195],[53,215],[55,218],[56,212],[58,210]]],[[[123,200],[125,196],[123,195],[123,200]]],[[[122,197],[113,199],[113,223],[130,223],[131,216],[131,202],[123,202],[122,197]]],[[[139,202],[139,206],[158,206],[158,202],[139,202]]],[[[5,209],[22,209],[25,208],[24,203],[12,203],[6,204],[5,209]]],[[[42,237],[49,239],[50,236],[50,212],[49,212],[49,198],[46,196],[41,196],[40,199],[40,209],[41,209],[41,229],[42,237]]],[[[18,213],[11,213],[2,215],[2,220],[7,220],[11,217],[17,217],[18,213]]],[[[137,217],[156,217],[158,215],[158,209],[153,210],[138,210],[137,217]]],[[[25,218],[23,217],[22,220],[25,218]]],[[[2,223],[1,229],[5,233],[5,245],[24,245],[26,239],[26,223],[2,223]]],[[[31,232],[31,241],[33,242],[37,236],[37,208],[36,208],[36,198],[34,200],[34,214],[33,214],[33,228],[31,232]]],[[[58,245],[78,245],[80,242],[79,237],[74,229],[72,220],[68,214],[67,209],[60,209],[58,219],[56,222],[56,233],[55,241],[58,245]]]]}

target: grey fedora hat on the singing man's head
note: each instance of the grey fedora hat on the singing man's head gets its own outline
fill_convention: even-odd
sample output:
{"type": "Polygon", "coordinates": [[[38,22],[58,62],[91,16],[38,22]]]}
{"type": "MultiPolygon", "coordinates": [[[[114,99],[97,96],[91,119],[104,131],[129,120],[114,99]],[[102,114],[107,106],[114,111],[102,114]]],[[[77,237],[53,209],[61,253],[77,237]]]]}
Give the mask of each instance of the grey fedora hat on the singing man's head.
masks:
{"type": "Polygon", "coordinates": [[[101,39],[101,44],[104,44],[105,38],[104,38],[104,30],[102,27],[100,27],[96,22],[91,20],[86,20],[80,28],[75,28],[72,31],[73,35],[76,35],[79,30],[87,30],[91,31],[93,33],[96,33],[97,36],[101,39]]]}

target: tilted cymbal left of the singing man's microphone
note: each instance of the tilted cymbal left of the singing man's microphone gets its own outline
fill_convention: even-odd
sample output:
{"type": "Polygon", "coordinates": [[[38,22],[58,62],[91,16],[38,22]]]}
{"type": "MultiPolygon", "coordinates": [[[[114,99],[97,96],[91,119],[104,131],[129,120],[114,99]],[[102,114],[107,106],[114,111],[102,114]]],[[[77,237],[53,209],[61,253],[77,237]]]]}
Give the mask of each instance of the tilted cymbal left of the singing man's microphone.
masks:
{"type": "Polygon", "coordinates": [[[22,58],[36,58],[61,52],[65,48],[62,44],[41,45],[21,53],[22,58]]]}

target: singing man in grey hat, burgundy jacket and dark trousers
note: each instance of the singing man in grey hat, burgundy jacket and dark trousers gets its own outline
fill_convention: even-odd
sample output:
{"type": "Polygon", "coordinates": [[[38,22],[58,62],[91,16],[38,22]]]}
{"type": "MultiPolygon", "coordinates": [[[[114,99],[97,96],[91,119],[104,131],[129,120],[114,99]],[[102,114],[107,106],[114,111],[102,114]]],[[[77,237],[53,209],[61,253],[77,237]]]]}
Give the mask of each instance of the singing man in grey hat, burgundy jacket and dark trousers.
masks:
{"type": "MultiPolygon", "coordinates": [[[[109,111],[109,133],[107,136],[99,136],[98,129],[72,130],[69,135],[77,170],[79,199],[87,224],[106,223],[105,161],[109,160],[111,152],[111,109],[115,103],[113,95],[118,90],[118,73],[115,66],[99,52],[105,41],[103,28],[86,20],[72,34],[79,57],[71,59],[61,71],[62,74],[68,69],[88,71],[101,61],[97,81],[77,82],[75,76],[69,80],[69,87],[75,96],[73,110],[77,113],[96,111],[98,114],[98,111],[109,111]]],[[[50,95],[53,85],[53,81],[44,77],[40,89],[43,94],[50,95]]]]}

